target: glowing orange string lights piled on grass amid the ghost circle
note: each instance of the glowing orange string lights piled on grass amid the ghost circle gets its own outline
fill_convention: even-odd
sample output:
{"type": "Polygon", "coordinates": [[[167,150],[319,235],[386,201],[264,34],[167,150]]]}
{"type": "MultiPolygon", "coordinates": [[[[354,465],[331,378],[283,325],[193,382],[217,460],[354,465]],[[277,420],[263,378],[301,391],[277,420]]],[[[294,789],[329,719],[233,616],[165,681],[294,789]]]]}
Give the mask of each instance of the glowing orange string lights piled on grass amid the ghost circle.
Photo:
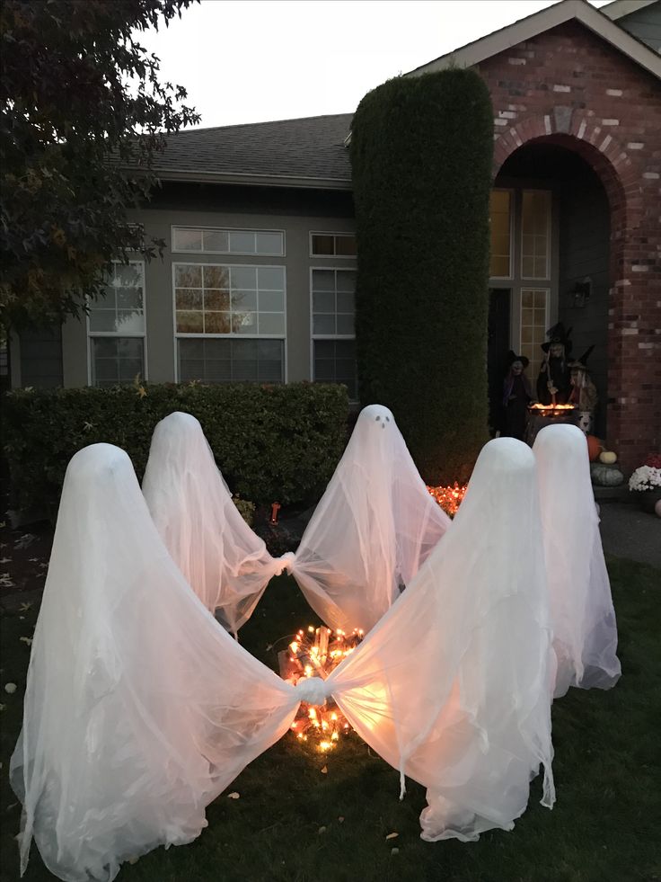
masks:
{"type": "MultiPolygon", "coordinates": [[[[281,676],[291,683],[304,677],[321,677],[325,680],[342,659],[356,649],[364,632],[355,629],[346,634],[338,629],[314,628],[299,630],[285,652],[278,654],[281,676]]],[[[347,734],[351,726],[338,706],[327,700],[321,706],[301,703],[298,716],[291,725],[299,741],[312,741],[320,753],[328,753],[339,742],[339,736],[347,734]]]]}

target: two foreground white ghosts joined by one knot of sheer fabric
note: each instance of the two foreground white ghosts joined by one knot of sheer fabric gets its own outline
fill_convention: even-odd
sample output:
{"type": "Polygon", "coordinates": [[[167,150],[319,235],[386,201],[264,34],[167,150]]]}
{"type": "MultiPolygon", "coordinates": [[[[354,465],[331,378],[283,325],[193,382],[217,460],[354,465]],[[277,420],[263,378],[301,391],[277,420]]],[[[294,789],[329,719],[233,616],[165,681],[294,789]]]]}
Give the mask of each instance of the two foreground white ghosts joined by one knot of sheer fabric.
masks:
{"type": "MultiPolygon", "coordinates": [[[[380,430],[387,431],[387,430],[380,430]]],[[[510,829],[544,767],[551,636],[533,454],[491,441],[443,546],[325,680],[280,680],[239,646],[163,544],[128,456],[66,472],[10,777],[68,882],[195,839],[205,806],[331,694],[383,759],[427,787],[428,840],[510,829]]],[[[402,778],[403,784],[403,778],[402,778]]]]}

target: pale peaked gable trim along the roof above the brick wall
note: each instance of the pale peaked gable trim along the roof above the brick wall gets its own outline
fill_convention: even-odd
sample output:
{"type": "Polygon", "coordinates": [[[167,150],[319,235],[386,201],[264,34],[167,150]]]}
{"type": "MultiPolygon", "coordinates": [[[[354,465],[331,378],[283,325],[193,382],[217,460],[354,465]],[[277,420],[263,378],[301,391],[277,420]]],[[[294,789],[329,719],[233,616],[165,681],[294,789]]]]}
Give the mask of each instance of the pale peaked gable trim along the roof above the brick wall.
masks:
{"type": "MultiPolygon", "coordinates": [[[[621,13],[626,14],[626,13],[621,13]]],[[[661,58],[657,53],[632,37],[627,31],[614,24],[604,13],[601,13],[586,0],[560,0],[560,3],[547,6],[539,13],[529,15],[518,22],[507,25],[499,31],[493,31],[480,40],[473,40],[461,49],[454,49],[426,65],[416,67],[406,76],[419,76],[445,67],[473,67],[480,61],[507,51],[525,40],[532,40],[544,31],[550,31],[565,22],[577,21],[597,36],[610,43],[623,55],[628,56],[649,73],[661,78],[661,58]]]]}

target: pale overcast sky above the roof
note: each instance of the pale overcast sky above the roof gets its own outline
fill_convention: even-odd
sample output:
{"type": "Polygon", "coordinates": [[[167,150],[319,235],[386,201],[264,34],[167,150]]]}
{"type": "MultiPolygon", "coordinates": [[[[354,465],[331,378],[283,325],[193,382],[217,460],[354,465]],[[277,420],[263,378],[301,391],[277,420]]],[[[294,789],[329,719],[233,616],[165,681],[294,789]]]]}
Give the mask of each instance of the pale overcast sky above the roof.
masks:
{"type": "MultiPolygon", "coordinates": [[[[602,6],[607,0],[591,0],[602,6]]],[[[142,35],[202,127],[351,113],[384,80],[552,0],[203,0],[142,35]]]]}

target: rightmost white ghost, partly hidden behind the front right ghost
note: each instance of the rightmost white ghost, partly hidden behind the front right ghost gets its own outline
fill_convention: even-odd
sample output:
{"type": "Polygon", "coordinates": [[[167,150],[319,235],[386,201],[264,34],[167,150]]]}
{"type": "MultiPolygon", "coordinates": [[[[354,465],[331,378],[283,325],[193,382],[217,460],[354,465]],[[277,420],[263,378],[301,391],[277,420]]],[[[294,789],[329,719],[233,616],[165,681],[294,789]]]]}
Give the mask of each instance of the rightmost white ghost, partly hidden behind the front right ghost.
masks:
{"type": "Polygon", "coordinates": [[[610,689],[621,667],[586,437],[576,426],[547,426],[533,452],[558,656],[554,695],[570,686],[610,689]]]}

